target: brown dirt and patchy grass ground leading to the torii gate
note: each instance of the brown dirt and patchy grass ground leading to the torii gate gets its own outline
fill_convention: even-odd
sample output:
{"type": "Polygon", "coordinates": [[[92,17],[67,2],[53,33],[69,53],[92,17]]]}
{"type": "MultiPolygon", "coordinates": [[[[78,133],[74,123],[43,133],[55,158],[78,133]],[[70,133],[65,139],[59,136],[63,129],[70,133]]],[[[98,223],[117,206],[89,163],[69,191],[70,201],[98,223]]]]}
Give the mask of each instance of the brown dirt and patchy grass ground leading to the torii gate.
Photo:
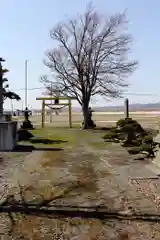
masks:
{"type": "MultiPolygon", "coordinates": [[[[144,126],[158,128],[158,119],[147,119],[143,120],[144,126]]],[[[33,123],[38,121],[33,119],[33,123]]],[[[160,179],[151,162],[135,161],[120,145],[105,143],[103,135],[98,130],[48,127],[45,137],[59,136],[62,143],[52,149],[37,145],[32,152],[5,154],[0,164],[1,195],[4,198],[14,194],[20,200],[20,184],[25,189],[26,201],[40,202],[45,198],[61,206],[103,206],[108,211],[159,213],[160,179]]],[[[82,216],[50,219],[23,214],[14,214],[14,219],[9,235],[10,218],[1,214],[1,239],[127,239],[120,238],[121,232],[128,233],[131,240],[160,239],[158,222],[82,216]]]]}

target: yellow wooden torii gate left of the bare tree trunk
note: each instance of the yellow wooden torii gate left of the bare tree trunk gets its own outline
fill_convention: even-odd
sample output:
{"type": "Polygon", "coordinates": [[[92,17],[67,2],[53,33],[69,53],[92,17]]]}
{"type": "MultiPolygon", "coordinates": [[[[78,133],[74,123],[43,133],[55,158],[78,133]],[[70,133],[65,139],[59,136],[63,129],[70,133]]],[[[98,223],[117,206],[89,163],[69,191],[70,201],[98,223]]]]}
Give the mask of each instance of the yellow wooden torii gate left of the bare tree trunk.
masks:
{"type": "Polygon", "coordinates": [[[45,106],[68,106],[69,113],[69,127],[72,128],[72,100],[76,100],[75,97],[39,97],[36,100],[42,101],[42,128],[45,127],[45,106]],[[46,103],[47,100],[55,100],[55,103],[46,103]],[[57,100],[68,100],[68,103],[59,103],[57,100]]]}

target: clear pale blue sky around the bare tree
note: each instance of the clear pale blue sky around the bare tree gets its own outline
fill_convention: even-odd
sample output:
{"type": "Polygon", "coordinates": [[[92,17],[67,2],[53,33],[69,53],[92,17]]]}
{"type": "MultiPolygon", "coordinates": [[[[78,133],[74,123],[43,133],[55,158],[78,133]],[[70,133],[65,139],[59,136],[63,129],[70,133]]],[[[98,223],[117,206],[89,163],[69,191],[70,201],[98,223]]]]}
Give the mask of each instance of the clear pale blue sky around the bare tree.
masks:
{"type": "MultiPolygon", "coordinates": [[[[28,87],[40,87],[39,76],[47,73],[43,65],[44,52],[54,47],[49,30],[66,17],[83,13],[87,1],[75,0],[5,0],[1,1],[0,55],[6,59],[5,67],[12,89],[24,88],[24,61],[28,63],[28,87]]],[[[154,96],[128,96],[130,102],[156,102],[160,99],[160,1],[158,0],[94,0],[94,7],[104,14],[127,9],[129,32],[134,37],[132,57],[139,60],[139,68],[130,77],[131,93],[154,93],[154,96]]],[[[39,108],[35,100],[43,90],[28,92],[28,103],[39,108]]],[[[24,91],[17,91],[24,97],[24,91]]],[[[123,100],[110,103],[93,102],[93,105],[122,104],[123,100]]],[[[22,108],[22,101],[14,101],[15,108],[22,108]]],[[[11,103],[5,101],[5,108],[11,103]]]]}

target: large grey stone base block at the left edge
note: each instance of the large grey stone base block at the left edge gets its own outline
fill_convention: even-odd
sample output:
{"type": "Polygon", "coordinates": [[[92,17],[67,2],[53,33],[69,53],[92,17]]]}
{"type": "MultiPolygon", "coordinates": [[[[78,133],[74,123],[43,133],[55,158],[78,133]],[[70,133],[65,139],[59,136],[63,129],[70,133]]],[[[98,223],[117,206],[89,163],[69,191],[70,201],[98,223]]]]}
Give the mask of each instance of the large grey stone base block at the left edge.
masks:
{"type": "Polygon", "coordinates": [[[12,151],[16,140],[17,122],[0,121],[0,151],[12,151]]]}

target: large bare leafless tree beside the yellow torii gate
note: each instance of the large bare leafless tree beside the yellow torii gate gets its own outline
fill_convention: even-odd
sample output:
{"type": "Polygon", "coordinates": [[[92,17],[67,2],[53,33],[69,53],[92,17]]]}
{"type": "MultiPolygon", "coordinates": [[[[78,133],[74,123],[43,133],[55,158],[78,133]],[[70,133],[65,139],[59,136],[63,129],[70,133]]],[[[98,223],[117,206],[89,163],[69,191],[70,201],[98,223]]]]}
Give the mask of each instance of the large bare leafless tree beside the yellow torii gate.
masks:
{"type": "Polygon", "coordinates": [[[57,24],[50,32],[58,43],[46,52],[45,65],[63,94],[76,97],[88,127],[91,98],[117,98],[127,87],[125,79],[137,66],[129,60],[132,37],[126,31],[125,13],[102,16],[91,6],[76,19],[57,24]]]}

